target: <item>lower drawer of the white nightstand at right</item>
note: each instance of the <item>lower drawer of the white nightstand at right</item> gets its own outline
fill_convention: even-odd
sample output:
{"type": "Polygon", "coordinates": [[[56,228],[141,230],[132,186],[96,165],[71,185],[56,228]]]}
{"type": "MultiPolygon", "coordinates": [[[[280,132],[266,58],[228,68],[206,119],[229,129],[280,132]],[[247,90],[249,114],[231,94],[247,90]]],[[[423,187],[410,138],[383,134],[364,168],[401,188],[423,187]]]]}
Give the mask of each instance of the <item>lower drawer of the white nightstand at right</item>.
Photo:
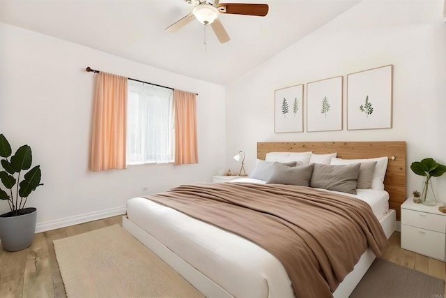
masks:
{"type": "Polygon", "coordinates": [[[401,225],[401,248],[438,260],[445,260],[446,234],[401,225]]]}

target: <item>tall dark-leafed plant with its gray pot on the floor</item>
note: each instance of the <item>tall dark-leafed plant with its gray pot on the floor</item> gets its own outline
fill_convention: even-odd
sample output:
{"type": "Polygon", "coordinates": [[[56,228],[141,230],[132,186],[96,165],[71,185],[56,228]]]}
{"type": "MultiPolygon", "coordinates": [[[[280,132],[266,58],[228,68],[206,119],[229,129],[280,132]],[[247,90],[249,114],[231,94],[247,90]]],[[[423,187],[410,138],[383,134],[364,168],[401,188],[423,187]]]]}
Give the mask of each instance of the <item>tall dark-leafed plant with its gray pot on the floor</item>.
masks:
{"type": "Polygon", "coordinates": [[[43,184],[40,184],[40,165],[29,170],[33,161],[29,145],[23,145],[13,156],[11,154],[8,140],[0,134],[3,167],[0,180],[4,187],[0,187],[0,199],[8,201],[10,207],[10,212],[0,215],[0,240],[6,251],[21,251],[31,245],[36,232],[37,209],[25,208],[25,204],[29,194],[43,184]]]}

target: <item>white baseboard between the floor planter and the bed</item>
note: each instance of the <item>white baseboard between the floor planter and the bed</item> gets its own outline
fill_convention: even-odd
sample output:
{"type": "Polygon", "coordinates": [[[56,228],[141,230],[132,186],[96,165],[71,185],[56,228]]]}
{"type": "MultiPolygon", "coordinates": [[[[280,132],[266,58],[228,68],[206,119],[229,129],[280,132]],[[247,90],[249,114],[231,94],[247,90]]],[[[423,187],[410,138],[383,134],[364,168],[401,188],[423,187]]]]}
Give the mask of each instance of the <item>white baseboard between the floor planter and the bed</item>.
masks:
{"type": "Polygon", "coordinates": [[[78,225],[79,223],[86,223],[88,221],[97,221],[98,219],[107,218],[111,216],[125,214],[126,207],[117,207],[103,211],[96,211],[89,214],[82,214],[71,216],[67,218],[56,219],[54,221],[46,221],[44,223],[36,224],[36,233],[65,228],[70,225],[78,225]]]}

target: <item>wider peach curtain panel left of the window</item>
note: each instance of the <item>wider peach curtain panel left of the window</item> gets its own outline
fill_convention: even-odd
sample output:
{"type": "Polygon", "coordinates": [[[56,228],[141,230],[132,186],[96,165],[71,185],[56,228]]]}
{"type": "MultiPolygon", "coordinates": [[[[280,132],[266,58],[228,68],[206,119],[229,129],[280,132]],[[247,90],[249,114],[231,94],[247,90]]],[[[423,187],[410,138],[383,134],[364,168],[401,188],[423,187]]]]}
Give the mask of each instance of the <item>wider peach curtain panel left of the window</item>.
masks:
{"type": "Polygon", "coordinates": [[[98,73],[93,107],[91,170],[125,169],[127,77],[98,73]]]}

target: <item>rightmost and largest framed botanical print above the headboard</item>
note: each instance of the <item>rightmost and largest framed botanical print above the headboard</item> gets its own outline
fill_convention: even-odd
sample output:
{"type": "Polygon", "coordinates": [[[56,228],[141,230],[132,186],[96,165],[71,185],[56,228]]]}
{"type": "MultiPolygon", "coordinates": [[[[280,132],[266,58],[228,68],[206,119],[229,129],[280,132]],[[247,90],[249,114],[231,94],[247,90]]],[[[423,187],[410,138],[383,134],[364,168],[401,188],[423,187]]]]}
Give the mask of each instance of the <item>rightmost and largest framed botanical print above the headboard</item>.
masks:
{"type": "Polygon", "coordinates": [[[347,75],[347,130],[392,128],[393,66],[347,75]]]}

